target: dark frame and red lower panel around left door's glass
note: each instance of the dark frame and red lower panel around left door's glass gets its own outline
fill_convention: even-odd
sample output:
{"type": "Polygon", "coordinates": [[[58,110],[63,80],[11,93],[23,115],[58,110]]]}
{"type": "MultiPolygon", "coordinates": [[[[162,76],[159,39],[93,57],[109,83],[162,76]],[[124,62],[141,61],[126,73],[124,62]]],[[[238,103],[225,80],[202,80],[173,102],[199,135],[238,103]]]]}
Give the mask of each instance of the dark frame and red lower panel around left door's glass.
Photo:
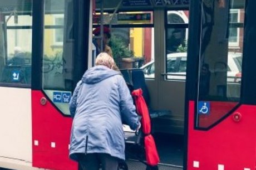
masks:
{"type": "MultiPolygon", "coordinates": [[[[44,23],[45,2],[46,0],[33,1],[32,166],[47,169],[75,169],[77,164],[67,157],[72,120],[55,105],[53,97],[48,96],[43,87],[43,54],[45,52],[43,42],[45,39],[44,31],[47,29],[44,23]]],[[[76,9],[71,9],[74,45],[72,56],[70,56],[73,58],[72,80],[73,89],[75,89],[76,83],[87,69],[88,48],[86,47],[89,47],[90,38],[90,18],[88,17],[90,10],[88,9],[91,9],[92,1],[71,0],[69,2],[73,2],[73,9],[76,9]]],[[[65,43],[63,43],[64,46],[65,43]]],[[[58,89],[51,87],[49,90],[50,94],[53,94],[58,89]]]]}

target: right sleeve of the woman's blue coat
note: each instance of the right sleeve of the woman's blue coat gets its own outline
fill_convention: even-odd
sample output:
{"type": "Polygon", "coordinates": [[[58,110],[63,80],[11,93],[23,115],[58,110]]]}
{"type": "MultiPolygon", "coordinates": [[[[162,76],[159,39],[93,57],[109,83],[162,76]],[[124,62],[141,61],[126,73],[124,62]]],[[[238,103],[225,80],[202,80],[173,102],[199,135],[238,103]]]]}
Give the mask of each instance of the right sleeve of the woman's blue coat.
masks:
{"type": "Polygon", "coordinates": [[[122,121],[126,122],[132,130],[136,130],[140,125],[139,117],[136,114],[136,108],[134,106],[130,91],[122,76],[120,76],[119,80],[119,95],[122,121]]]}

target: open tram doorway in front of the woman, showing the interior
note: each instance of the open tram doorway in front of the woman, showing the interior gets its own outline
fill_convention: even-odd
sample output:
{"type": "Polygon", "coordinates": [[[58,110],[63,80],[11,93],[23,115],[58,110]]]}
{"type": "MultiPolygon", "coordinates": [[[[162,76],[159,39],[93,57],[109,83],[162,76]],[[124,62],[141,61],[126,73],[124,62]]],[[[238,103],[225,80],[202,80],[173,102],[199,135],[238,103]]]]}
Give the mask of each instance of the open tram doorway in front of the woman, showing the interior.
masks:
{"type": "MultiPolygon", "coordinates": [[[[96,1],[94,6],[93,29],[101,23],[111,29],[109,46],[117,66],[127,83],[144,90],[159,167],[182,169],[189,3],[96,1]]],[[[128,166],[139,166],[137,159],[128,154],[128,166]]]]}

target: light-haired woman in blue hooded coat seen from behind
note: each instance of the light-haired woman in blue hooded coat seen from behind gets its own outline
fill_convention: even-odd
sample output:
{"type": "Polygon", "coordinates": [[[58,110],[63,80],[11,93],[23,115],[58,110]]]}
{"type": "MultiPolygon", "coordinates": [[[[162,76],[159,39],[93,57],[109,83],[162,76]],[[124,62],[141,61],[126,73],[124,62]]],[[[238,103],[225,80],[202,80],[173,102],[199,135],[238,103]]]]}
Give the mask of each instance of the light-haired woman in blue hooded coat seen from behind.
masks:
{"type": "Polygon", "coordinates": [[[77,83],[70,101],[70,158],[86,170],[99,169],[100,164],[112,170],[125,159],[122,121],[132,130],[140,122],[124,78],[112,69],[113,58],[100,53],[95,64],[77,83]]]}

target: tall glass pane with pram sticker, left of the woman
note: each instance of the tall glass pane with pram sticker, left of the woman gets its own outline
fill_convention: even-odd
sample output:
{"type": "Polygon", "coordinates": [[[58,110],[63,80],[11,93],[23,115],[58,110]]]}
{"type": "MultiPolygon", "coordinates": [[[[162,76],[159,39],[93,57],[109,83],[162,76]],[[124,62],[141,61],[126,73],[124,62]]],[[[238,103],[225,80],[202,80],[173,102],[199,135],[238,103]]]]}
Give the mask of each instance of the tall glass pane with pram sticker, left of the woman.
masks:
{"type": "Polygon", "coordinates": [[[63,114],[69,115],[73,79],[73,1],[45,1],[43,90],[63,114]]]}

